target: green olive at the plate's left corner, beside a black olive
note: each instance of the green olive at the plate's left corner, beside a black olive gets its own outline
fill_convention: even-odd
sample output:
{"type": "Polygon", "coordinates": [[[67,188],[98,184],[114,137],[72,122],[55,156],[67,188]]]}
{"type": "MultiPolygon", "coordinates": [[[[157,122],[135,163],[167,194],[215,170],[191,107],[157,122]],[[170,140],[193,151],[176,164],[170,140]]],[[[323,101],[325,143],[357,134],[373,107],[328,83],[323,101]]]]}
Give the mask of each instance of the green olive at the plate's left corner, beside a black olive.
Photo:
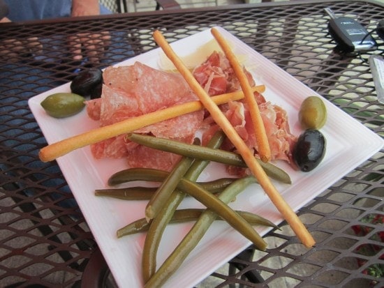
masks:
{"type": "Polygon", "coordinates": [[[48,115],[64,118],[80,112],[85,104],[84,97],[74,93],[54,93],[40,103],[48,115]]]}

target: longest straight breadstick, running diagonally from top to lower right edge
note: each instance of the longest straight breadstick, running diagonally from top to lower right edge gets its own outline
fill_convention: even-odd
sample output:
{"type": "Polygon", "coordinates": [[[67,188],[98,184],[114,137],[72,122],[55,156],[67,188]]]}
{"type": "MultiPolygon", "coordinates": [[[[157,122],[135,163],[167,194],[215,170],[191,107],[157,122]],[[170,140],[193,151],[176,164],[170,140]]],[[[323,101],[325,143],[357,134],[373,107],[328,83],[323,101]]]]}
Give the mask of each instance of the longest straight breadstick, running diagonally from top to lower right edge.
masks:
{"type": "Polygon", "coordinates": [[[172,47],[168,44],[167,40],[165,40],[163,34],[156,30],[154,31],[154,40],[156,43],[163,49],[165,55],[168,56],[170,61],[175,65],[179,73],[183,75],[186,82],[189,84],[193,92],[198,96],[201,103],[211,114],[214,121],[221,127],[223,132],[226,133],[226,136],[230,139],[232,144],[236,147],[237,151],[243,157],[246,165],[248,165],[251,170],[253,176],[256,177],[258,183],[267,193],[269,199],[271,199],[272,203],[283,215],[283,218],[288,222],[290,227],[293,229],[295,234],[300,241],[307,246],[312,247],[315,244],[315,241],[311,234],[309,234],[307,228],[297,217],[296,213],[290,208],[287,202],[281,197],[280,193],[276,190],[272,182],[269,180],[267,174],[265,174],[263,168],[256,161],[256,158],[253,156],[253,152],[251,149],[246,146],[241,137],[237,134],[235,128],[232,127],[226,116],[223,115],[219,107],[214,103],[212,98],[210,98],[207,92],[202,89],[202,86],[197,82],[197,80],[193,77],[191,71],[186,68],[181,59],[175,54],[172,50],[172,47]]]}

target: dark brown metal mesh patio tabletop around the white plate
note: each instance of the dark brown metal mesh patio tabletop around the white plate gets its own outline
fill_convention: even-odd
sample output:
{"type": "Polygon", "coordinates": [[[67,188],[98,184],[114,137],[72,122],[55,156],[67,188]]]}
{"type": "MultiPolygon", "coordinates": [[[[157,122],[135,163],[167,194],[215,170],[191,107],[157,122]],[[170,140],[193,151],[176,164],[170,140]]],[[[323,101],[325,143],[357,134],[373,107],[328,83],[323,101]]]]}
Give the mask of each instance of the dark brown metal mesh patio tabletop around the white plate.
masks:
{"type": "MultiPolygon", "coordinates": [[[[374,32],[378,50],[334,53],[328,6],[369,31],[384,19],[384,8],[373,2],[291,1],[1,26],[0,287],[80,287],[84,270],[92,278],[105,272],[90,261],[96,242],[57,163],[38,160],[46,142],[27,100],[71,81],[82,68],[105,68],[154,49],[154,29],[172,42],[222,26],[383,137],[384,107],[367,63],[369,55],[383,54],[383,40],[374,32]],[[78,33],[85,39],[109,33],[108,50],[96,49],[99,61],[73,60],[66,38],[78,33]]],[[[316,248],[304,248],[283,222],[265,236],[267,251],[251,246],[199,287],[383,287],[383,197],[380,151],[300,210],[316,248]]]]}

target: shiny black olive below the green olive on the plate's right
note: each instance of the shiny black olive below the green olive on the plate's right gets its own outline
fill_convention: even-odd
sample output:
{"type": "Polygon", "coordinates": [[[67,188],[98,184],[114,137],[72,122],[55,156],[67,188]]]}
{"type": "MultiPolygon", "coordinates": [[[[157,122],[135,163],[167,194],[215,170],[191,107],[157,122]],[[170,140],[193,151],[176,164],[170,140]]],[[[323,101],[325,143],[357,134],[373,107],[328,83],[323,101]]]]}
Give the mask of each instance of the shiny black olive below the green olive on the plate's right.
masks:
{"type": "Polygon", "coordinates": [[[293,160],[302,172],[309,172],[316,168],[325,155],[325,137],[316,129],[307,129],[293,149],[293,160]]]}

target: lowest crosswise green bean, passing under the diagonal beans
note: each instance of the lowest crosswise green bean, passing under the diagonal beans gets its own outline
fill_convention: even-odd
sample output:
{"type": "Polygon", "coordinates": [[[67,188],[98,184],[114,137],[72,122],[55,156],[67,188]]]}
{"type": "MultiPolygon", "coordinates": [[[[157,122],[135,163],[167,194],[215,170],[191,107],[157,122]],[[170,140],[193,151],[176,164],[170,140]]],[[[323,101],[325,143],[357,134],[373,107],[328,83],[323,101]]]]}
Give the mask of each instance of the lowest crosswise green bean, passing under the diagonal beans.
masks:
{"type": "MultiPolygon", "coordinates": [[[[196,221],[200,215],[205,211],[205,209],[180,209],[176,210],[173,214],[170,223],[180,223],[180,222],[189,222],[196,221]]],[[[274,227],[279,229],[278,226],[274,225],[271,221],[261,217],[260,215],[247,212],[247,211],[236,211],[246,222],[249,222],[251,225],[263,225],[268,227],[274,227]]],[[[216,220],[223,220],[223,218],[216,218],[216,220]]],[[[128,225],[117,230],[117,238],[123,236],[136,234],[140,232],[146,232],[149,228],[149,222],[146,218],[140,218],[135,220],[128,225]]]]}

